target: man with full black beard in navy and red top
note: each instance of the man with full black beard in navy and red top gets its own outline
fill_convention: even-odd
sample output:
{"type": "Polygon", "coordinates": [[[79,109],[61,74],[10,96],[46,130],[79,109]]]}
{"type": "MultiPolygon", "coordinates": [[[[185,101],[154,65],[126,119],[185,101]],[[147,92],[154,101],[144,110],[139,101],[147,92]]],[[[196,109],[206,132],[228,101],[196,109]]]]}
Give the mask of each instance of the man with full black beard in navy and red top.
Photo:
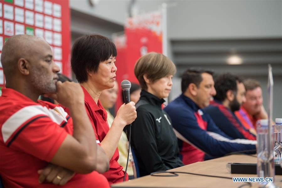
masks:
{"type": "Polygon", "coordinates": [[[234,114],[246,101],[242,80],[230,73],[221,74],[215,80],[215,90],[214,100],[204,109],[215,125],[234,139],[256,140],[256,136],[249,132],[234,114]]]}

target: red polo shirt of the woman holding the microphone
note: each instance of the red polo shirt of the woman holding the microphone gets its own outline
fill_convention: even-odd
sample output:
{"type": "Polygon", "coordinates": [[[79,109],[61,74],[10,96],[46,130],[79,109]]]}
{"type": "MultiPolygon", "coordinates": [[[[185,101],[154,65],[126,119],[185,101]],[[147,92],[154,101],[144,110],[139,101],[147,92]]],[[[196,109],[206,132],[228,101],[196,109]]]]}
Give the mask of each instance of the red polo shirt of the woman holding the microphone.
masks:
{"type": "MultiPolygon", "coordinates": [[[[96,143],[100,145],[100,142],[103,141],[104,137],[109,132],[107,112],[101,105],[100,100],[98,100],[98,104],[96,104],[91,95],[86,91],[86,89],[84,89],[83,87],[82,89],[84,92],[85,108],[96,135],[96,143]]],[[[65,110],[69,113],[68,109],[65,110]]],[[[110,184],[123,181],[125,171],[122,170],[123,167],[118,163],[118,159],[119,150],[118,148],[116,148],[114,155],[109,162],[110,169],[103,174],[108,179],[110,184]]],[[[127,174],[125,180],[128,180],[127,174]]]]}

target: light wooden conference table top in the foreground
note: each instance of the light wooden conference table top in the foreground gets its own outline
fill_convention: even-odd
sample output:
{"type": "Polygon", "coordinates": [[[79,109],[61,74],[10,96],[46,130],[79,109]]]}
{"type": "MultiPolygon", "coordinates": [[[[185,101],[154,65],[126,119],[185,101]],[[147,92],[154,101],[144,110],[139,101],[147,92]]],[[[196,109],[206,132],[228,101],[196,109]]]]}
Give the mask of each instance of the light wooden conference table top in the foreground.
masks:
{"type": "MultiPolygon", "coordinates": [[[[208,161],[197,162],[168,171],[191,172],[205,175],[225,176],[225,177],[257,177],[257,175],[248,174],[231,174],[226,169],[227,163],[257,163],[257,158],[247,155],[230,155],[226,157],[216,158],[208,161]]],[[[275,185],[282,188],[282,175],[275,176],[275,185]]],[[[128,187],[158,187],[158,188],[186,188],[186,187],[239,187],[241,185],[249,187],[246,183],[234,183],[231,179],[206,177],[199,175],[178,174],[172,177],[157,177],[147,175],[132,181],[114,184],[113,188],[128,187]]],[[[258,187],[258,183],[252,183],[252,187],[258,187]]]]}

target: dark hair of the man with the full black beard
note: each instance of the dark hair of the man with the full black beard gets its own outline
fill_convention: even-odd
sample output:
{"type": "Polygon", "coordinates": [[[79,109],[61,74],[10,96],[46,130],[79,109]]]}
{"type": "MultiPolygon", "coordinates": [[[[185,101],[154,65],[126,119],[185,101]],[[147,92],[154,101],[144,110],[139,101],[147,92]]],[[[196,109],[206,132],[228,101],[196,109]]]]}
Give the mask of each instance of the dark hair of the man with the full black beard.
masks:
{"type": "Polygon", "coordinates": [[[224,101],[226,99],[226,92],[231,90],[237,94],[237,82],[242,83],[242,79],[231,73],[224,73],[215,78],[216,95],[214,99],[224,101]]]}

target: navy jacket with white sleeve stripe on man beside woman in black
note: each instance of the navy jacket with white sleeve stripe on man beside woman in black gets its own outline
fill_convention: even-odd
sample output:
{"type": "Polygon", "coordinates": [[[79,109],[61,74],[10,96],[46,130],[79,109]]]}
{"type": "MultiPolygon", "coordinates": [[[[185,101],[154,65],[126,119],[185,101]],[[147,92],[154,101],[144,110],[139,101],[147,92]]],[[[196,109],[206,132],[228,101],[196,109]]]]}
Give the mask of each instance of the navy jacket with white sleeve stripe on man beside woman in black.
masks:
{"type": "MultiPolygon", "coordinates": [[[[252,150],[245,153],[256,153],[254,142],[250,144],[251,142],[249,140],[244,140],[245,143],[236,143],[236,141],[233,141],[231,137],[227,136],[215,125],[214,121],[212,121],[205,111],[201,111],[194,101],[183,94],[169,103],[164,110],[170,116],[173,127],[182,136],[184,136],[193,146],[212,157],[221,157],[228,153],[245,150],[252,150]],[[197,113],[200,114],[200,118],[206,124],[206,130],[199,126],[198,121],[200,120],[199,117],[196,117],[197,113]],[[217,133],[217,137],[214,135],[210,136],[212,134],[208,132],[217,133]]],[[[181,152],[182,150],[185,150],[185,148],[182,148],[183,145],[183,141],[178,139],[179,150],[183,155],[180,156],[180,158],[185,157],[185,155],[191,155],[191,153],[188,152],[181,152]]],[[[201,160],[203,159],[199,159],[198,161],[201,160]]],[[[189,161],[183,162],[184,164],[189,164],[189,161]]]]}

